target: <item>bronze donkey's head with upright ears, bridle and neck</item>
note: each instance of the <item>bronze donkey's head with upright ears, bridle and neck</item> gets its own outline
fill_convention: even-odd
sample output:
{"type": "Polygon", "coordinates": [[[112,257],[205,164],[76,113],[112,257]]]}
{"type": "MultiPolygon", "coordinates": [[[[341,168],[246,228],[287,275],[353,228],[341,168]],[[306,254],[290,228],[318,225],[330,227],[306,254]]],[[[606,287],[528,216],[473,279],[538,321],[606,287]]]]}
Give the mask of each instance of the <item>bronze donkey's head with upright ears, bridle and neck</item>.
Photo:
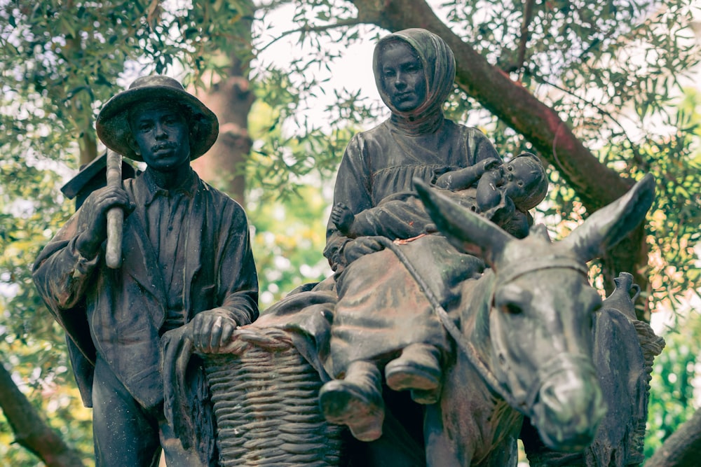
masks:
{"type": "Polygon", "coordinates": [[[586,263],[644,219],[653,177],[556,243],[538,227],[514,239],[434,190],[417,189],[451,244],[490,266],[464,283],[459,333],[451,332],[463,351],[440,403],[426,409],[428,464],[515,465],[521,414],[547,447],[587,447],[606,407],[592,363],[592,323],[602,300],[586,263]]]}

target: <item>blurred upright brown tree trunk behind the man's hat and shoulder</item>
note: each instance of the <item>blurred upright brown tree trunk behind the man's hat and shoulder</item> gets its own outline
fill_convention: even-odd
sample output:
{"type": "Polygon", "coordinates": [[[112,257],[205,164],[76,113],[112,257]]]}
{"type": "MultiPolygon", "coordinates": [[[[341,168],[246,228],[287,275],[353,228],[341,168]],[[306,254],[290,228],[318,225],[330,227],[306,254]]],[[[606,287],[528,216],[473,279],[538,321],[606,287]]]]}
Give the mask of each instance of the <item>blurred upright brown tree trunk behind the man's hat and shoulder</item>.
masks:
{"type": "Polygon", "coordinates": [[[219,118],[219,138],[205,155],[193,161],[192,167],[203,180],[223,190],[243,204],[245,178],[243,163],[252,141],[248,135],[248,113],[254,101],[248,81],[251,55],[251,25],[254,6],[241,1],[245,8],[238,21],[240,35],[232,39],[229,50],[221,50],[229,60],[229,76],[213,83],[198,98],[219,118]]]}

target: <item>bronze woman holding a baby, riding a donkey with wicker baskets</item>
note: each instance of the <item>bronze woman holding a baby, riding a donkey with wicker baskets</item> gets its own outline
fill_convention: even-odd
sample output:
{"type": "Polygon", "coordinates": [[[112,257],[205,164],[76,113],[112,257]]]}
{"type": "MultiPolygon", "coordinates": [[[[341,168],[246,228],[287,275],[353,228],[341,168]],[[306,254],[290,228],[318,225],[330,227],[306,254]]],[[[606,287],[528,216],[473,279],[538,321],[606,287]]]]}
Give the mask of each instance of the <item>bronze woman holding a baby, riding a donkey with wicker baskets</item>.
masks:
{"type": "Polygon", "coordinates": [[[534,466],[637,459],[639,368],[651,360],[625,316],[631,300],[602,304],[586,262],[644,218],[652,177],[552,243],[529,229],[526,209],[547,189],[537,158],[503,164],[483,134],[444,119],[445,43],[390,34],[374,65],[392,117],[356,135],[341,162],[325,249],[334,276],[218,349],[193,344],[193,323],[165,333],[166,413],[183,444],[207,447],[183,390],[198,355],[222,466],[515,466],[519,435],[534,466]],[[388,221],[365,230],[376,215],[388,221]],[[611,375],[627,396],[601,391],[611,375]],[[604,416],[607,403],[625,410],[604,416]],[[624,412],[634,427],[597,432],[624,412]]]}

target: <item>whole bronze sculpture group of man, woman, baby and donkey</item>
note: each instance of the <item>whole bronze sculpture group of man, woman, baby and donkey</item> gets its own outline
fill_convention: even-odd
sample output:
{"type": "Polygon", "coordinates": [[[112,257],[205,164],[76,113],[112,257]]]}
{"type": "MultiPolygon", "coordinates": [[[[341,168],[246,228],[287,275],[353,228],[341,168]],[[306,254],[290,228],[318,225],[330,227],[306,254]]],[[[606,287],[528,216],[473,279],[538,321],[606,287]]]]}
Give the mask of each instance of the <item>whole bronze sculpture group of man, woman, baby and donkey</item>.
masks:
{"type": "Polygon", "coordinates": [[[587,261],[644,219],[654,181],[551,242],[528,213],[547,190],[538,158],[503,162],[444,118],[454,67],[423,29],[379,41],[392,115],[346,148],[335,274],[257,320],[243,209],[189,167],[216,118],[163,77],[105,105],[102,141],[148,169],[88,195],[34,267],[84,363],[101,465],[153,465],[163,445],[170,466],[503,467],[519,437],[534,467],[641,461],[664,342],[635,319],[629,274],[602,301],[587,261]]]}

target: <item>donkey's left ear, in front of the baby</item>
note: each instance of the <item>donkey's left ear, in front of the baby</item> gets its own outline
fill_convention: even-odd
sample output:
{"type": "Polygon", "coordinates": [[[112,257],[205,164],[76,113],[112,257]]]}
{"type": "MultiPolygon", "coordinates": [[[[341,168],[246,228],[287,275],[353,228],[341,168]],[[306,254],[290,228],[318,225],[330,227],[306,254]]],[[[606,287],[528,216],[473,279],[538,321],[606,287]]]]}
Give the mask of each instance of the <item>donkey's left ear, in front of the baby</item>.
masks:
{"type": "Polygon", "coordinates": [[[513,239],[496,224],[430,188],[421,179],[414,179],[414,187],[438,230],[459,251],[475,254],[491,263],[513,239]]]}

